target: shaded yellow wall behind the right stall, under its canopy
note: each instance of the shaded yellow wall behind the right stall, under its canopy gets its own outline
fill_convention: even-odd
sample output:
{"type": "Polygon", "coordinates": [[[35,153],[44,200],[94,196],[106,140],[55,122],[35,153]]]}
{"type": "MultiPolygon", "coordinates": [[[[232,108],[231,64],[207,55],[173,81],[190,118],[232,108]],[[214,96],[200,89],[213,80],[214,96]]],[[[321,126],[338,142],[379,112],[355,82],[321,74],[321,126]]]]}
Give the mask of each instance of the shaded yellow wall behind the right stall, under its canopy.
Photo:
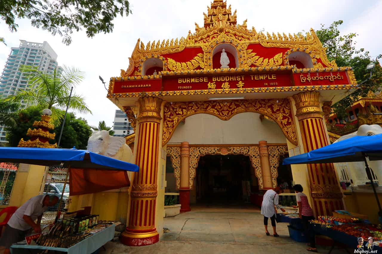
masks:
{"type": "MultiPolygon", "coordinates": [[[[371,223],[379,224],[378,205],[374,193],[346,193],[344,201],[346,211],[367,215],[371,223]]],[[[382,193],[378,193],[378,198],[382,200],[382,193]]]]}

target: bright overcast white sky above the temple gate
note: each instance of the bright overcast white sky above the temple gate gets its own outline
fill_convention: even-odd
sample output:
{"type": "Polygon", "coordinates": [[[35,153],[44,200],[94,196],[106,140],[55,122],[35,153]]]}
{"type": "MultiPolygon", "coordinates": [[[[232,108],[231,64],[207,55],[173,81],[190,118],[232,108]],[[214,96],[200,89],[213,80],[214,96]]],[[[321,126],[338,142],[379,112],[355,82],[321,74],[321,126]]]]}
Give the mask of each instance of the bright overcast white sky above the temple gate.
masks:
{"type": "MultiPolygon", "coordinates": [[[[58,55],[59,65],[76,66],[86,72],[76,93],[86,97],[86,103],[93,114],[76,114],[87,119],[90,125],[106,121],[112,126],[117,107],[106,98],[106,90],[98,76],[108,85],[110,77],[120,76],[120,69],[128,68],[128,57],[138,38],[146,45],[149,41],[186,37],[188,31],[194,32],[197,22],[203,25],[203,12],[211,0],[131,0],[133,14],[114,20],[111,34],[98,34],[86,37],[84,31],[74,32],[70,46],[64,45],[59,35],[31,26],[29,20],[19,20],[18,32],[11,33],[3,20],[0,21],[0,36],[8,46],[0,43],[0,68],[3,68],[11,47],[18,47],[19,40],[30,42],[47,41],[58,55]]],[[[238,23],[248,19],[248,28],[257,31],[297,33],[317,30],[320,24],[329,26],[342,19],[342,34],[356,32],[357,47],[369,50],[372,56],[382,53],[382,0],[306,0],[290,2],[282,0],[248,1],[227,0],[232,10],[237,9],[238,23]]]]}

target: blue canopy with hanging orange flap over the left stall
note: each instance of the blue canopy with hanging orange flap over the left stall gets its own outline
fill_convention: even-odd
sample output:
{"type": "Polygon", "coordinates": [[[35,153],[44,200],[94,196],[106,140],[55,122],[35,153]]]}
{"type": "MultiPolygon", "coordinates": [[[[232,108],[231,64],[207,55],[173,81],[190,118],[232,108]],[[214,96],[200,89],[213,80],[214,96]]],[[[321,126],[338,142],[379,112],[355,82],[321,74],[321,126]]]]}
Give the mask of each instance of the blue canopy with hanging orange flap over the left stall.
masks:
{"type": "MultiPolygon", "coordinates": [[[[67,167],[68,172],[63,189],[65,189],[70,172],[70,195],[91,193],[92,190],[105,191],[129,186],[130,182],[126,171],[138,172],[139,170],[135,164],[74,148],[0,147],[0,162],[67,167]],[[119,171],[120,173],[117,173],[117,175],[112,174],[113,171],[119,171]],[[107,182],[107,184],[100,184],[98,181],[100,179],[102,182],[107,182]],[[74,184],[71,184],[71,182],[74,182],[74,184]],[[74,190],[73,185],[77,187],[77,190],[74,190]],[[84,191],[78,191],[79,188],[84,189],[84,191]]],[[[58,211],[60,211],[62,197],[63,193],[58,205],[58,211]]]]}

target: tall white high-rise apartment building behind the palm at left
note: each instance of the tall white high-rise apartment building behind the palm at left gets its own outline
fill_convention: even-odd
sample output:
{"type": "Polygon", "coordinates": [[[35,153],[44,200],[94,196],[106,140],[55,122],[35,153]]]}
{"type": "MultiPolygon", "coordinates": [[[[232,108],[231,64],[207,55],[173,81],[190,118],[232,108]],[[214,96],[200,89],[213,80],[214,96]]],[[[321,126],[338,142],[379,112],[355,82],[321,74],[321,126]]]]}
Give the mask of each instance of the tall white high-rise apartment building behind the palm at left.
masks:
{"type": "MultiPolygon", "coordinates": [[[[28,79],[20,71],[21,66],[36,66],[41,71],[53,72],[58,67],[57,54],[49,43],[27,42],[20,40],[19,47],[12,47],[0,77],[0,98],[15,94],[20,89],[28,88],[28,79]]],[[[25,105],[24,105],[25,106],[25,105]]],[[[5,130],[0,126],[0,143],[5,142],[5,130]]]]}

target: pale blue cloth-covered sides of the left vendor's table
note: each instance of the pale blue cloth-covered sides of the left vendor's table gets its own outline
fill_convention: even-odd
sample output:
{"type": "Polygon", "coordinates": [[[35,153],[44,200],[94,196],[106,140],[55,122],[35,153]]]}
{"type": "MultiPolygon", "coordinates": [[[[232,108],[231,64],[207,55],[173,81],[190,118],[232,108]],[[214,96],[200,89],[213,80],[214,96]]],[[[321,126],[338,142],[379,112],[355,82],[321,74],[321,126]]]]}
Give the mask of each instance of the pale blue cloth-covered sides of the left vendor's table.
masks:
{"type": "Polygon", "coordinates": [[[97,249],[104,246],[108,241],[114,238],[115,224],[110,225],[104,230],[96,233],[83,241],[71,246],[70,248],[54,248],[45,247],[38,245],[17,245],[13,244],[11,246],[12,254],[24,254],[24,253],[38,253],[45,250],[56,251],[56,252],[66,252],[68,254],[91,254],[97,249]]]}

